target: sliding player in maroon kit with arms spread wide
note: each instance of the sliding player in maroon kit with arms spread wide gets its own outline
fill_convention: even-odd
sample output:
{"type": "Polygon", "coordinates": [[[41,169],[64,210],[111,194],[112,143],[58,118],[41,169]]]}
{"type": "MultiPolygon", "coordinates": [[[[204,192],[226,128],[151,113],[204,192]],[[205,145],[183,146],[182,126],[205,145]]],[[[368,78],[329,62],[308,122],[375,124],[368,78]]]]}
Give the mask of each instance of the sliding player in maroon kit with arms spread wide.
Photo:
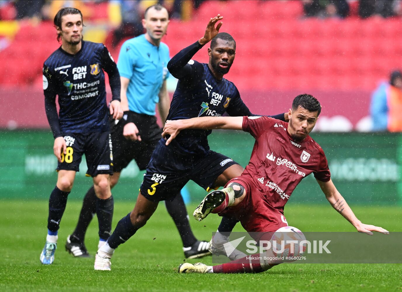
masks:
{"type": "MultiPolygon", "coordinates": [[[[226,188],[209,193],[193,216],[201,221],[209,213],[237,218],[248,232],[272,234],[288,226],[283,208],[303,178],[313,173],[332,207],[359,232],[388,234],[377,226],[361,223],[336,190],[324,151],[308,134],[316,125],[321,105],[310,94],[301,94],[289,109],[289,123],[266,116],[201,117],[167,121],[163,136],[170,143],[182,129],[234,129],[249,132],[255,139],[250,162],[243,174],[230,180],[226,188]]],[[[267,238],[265,238],[267,239],[267,238]]],[[[269,239],[269,238],[268,238],[269,239]]],[[[263,272],[278,262],[260,257],[244,264],[238,259],[222,265],[203,263],[180,265],[181,273],[251,273],[263,272]]]]}

